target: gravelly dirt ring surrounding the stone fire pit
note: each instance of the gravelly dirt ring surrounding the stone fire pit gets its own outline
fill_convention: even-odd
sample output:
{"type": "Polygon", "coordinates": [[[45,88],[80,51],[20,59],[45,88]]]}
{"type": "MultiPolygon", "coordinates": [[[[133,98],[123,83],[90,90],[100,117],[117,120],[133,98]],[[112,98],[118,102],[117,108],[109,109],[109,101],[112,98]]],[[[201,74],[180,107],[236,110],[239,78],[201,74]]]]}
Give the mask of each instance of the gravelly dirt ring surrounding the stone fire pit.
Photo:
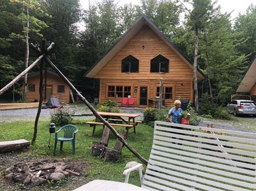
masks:
{"type": "Polygon", "coordinates": [[[65,159],[52,159],[52,158],[40,158],[40,156],[32,155],[20,155],[19,152],[7,152],[6,154],[0,154],[0,190],[73,190],[83,184],[86,184],[86,177],[88,176],[88,169],[90,166],[84,160],[65,160],[65,159]],[[47,180],[43,185],[35,185],[32,182],[24,184],[21,181],[13,182],[7,180],[6,169],[10,167],[16,167],[17,164],[39,164],[39,163],[65,163],[72,171],[79,172],[80,176],[69,173],[60,181],[47,180]]]}

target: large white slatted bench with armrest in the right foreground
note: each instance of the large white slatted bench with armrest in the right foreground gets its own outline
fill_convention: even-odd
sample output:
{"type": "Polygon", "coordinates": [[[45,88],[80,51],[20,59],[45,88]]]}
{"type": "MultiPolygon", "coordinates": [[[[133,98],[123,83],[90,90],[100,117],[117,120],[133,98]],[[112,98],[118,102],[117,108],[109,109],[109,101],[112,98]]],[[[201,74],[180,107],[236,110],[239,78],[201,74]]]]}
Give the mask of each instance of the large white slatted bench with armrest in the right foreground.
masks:
{"type": "MultiPolygon", "coordinates": [[[[134,169],[142,174],[142,164],[124,172],[126,182],[134,169]]],[[[256,134],[155,121],[141,188],[255,191],[256,134]]]]}

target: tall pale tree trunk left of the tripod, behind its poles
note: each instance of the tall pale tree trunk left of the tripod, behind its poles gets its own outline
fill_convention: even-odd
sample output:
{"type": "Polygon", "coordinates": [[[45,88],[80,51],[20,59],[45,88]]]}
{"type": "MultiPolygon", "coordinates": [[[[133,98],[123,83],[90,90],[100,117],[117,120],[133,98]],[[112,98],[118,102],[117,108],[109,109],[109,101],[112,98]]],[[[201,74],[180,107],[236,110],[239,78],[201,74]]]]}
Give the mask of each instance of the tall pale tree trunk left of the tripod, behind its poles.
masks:
{"type": "MultiPolygon", "coordinates": [[[[30,46],[28,45],[28,29],[30,28],[29,12],[27,6],[27,31],[25,32],[26,37],[26,53],[25,53],[25,69],[28,67],[28,57],[30,56],[30,46]]],[[[24,28],[24,26],[23,26],[24,28]]],[[[27,99],[27,74],[24,75],[24,90],[23,90],[23,100],[27,99]]]]}

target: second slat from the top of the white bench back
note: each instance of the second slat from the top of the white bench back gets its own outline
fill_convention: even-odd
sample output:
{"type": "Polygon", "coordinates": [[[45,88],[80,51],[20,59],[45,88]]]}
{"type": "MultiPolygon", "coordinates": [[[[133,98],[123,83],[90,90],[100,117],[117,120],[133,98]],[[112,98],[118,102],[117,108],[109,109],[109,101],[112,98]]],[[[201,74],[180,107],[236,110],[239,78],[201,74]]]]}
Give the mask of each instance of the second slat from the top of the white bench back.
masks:
{"type": "MultiPolygon", "coordinates": [[[[166,127],[160,127],[160,126],[155,126],[155,130],[164,130],[164,131],[170,131],[170,132],[175,132],[175,133],[184,133],[184,130],[181,130],[181,129],[166,128],[166,127]]],[[[208,131],[212,131],[212,128],[209,128],[208,131]]],[[[210,134],[210,133],[203,133],[203,132],[198,132],[198,131],[191,131],[188,134],[196,135],[199,137],[218,138],[218,139],[223,139],[223,140],[227,140],[227,141],[243,142],[243,143],[249,143],[249,144],[255,145],[255,139],[249,139],[249,138],[231,137],[228,135],[210,134]]]]}

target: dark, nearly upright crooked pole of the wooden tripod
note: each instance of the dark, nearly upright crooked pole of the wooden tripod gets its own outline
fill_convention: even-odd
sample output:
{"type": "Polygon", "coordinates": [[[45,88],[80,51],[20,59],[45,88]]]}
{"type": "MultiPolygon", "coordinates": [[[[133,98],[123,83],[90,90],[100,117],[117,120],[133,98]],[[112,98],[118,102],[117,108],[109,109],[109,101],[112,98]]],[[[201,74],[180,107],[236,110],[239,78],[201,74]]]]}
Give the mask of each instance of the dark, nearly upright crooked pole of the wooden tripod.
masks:
{"type": "MultiPolygon", "coordinates": [[[[46,40],[42,40],[42,51],[41,53],[44,54],[46,46],[46,40]]],[[[32,144],[36,141],[36,136],[38,133],[38,121],[42,109],[42,103],[43,103],[43,66],[44,66],[44,59],[41,60],[40,62],[40,83],[39,83],[39,105],[38,105],[38,113],[36,113],[36,118],[35,118],[35,125],[34,125],[34,134],[33,134],[33,139],[32,139],[32,144]]]]}

